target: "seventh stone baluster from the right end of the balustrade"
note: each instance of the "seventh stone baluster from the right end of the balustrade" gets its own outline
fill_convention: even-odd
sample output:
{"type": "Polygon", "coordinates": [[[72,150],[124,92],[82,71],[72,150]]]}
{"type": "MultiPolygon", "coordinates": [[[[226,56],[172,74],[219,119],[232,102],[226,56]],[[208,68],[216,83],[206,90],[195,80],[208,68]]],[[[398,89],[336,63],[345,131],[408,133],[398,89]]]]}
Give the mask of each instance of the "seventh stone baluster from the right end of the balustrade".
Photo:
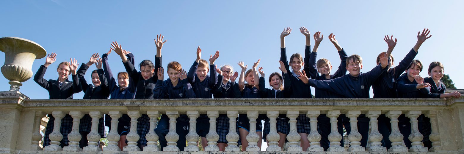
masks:
{"type": "Polygon", "coordinates": [[[309,110],[306,114],[309,117],[309,123],[311,123],[311,132],[308,135],[309,147],[306,151],[324,151],[321,147],[322,136],[317,132],[317,117],[321,114],[320,110],[309,110]]]}

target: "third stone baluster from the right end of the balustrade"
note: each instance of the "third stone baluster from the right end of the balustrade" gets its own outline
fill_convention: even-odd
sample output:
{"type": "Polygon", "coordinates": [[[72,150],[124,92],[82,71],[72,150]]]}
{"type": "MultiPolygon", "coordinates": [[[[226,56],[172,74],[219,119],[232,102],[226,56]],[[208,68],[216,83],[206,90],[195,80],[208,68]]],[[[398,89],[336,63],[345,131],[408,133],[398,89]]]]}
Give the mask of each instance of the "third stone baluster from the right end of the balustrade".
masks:
{"type": "Polygon", "coordinates": [[[392,124],[392,133],[388,136],[390,142],[392,142],[392,147],[388,149],[389,152],[407,152],[407,148],[403,145],[403,135],[400,133],[398,128],[398,117],[400,117],[401,111],[388,111],[385,116],[390,118],[390,123],[392,124]]]}

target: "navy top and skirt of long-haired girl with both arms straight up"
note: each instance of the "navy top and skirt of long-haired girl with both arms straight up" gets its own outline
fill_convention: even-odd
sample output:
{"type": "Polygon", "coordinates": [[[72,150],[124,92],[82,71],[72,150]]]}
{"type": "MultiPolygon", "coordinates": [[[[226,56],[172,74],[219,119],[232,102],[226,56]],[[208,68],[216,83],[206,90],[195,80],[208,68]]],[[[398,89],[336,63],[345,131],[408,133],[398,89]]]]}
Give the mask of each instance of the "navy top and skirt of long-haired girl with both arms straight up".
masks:
{"type": "MultiPolygon", "coordinates": [[[[309,52],[311,52],[310,46],[307,46],[305,50],[309,50],[309,52]]],[[[280,61],[284,62],[285,69],[287,69],[287,72],[290,75],[291,92],[289,98],[312,98],[311,87],[304,84],[303,81],[298,78],[298,75],[290,70],[285,48],[280,48],[280,61]]],[[[290,62],[291,61],[292,60],[290,59],[290,62]]],[[[309,134],[311,132],[310,128],[309,117],[306,117],[306,114],[300,114],[296,118],[296,131],[298,133],[309,134]]]]}

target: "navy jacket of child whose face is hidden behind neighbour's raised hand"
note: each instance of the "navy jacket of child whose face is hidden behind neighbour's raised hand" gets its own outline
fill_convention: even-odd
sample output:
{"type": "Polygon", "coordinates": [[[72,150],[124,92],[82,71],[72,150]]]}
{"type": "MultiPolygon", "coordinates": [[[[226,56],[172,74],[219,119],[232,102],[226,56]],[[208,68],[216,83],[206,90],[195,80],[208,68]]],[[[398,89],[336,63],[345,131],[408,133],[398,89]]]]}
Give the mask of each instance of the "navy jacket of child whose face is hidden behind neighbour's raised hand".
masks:
{"type": "Polygon", "coordinates": [[[396,80],[398,80],[401,73],[407,69],[416,55],[417,52],[411,49],[398,66],[385,71],[375,80],[374,85],[372,85],[374,98],[398,98],[396,93],[396,80]]]}

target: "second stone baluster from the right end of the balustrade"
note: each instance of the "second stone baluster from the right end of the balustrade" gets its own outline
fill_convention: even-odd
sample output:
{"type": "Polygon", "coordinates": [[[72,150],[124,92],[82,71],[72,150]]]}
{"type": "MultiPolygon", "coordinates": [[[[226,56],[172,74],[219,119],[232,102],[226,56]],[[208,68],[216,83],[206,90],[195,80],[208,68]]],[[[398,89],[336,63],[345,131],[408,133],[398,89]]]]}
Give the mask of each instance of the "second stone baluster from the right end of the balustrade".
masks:
{"type": "Polygon", "coordinates": [[[409,148],[410,152],[428,152],[429,150],[422,145],[422,139],[424,136],[420,134],[419,128],[417,125],[417,117],[422,114],[422,111],[408,111],[406,112],[406,117],[411,119],[409,122],[411,123],[411,134],[409,135],[408,139],[411,141],[411,148],[409,148]]]}

